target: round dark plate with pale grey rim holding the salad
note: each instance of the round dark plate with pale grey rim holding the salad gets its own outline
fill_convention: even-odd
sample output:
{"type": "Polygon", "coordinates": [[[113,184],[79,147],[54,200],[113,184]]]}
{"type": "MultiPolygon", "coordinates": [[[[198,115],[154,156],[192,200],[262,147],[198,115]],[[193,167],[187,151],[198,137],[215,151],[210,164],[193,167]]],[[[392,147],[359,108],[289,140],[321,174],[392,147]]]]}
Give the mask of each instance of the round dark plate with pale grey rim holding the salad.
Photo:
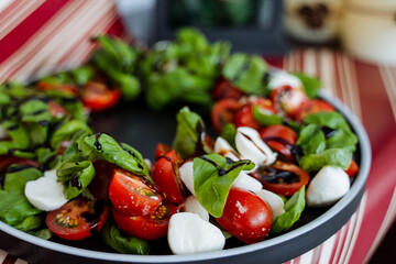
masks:
{"type": "MultiPolygon", "coordinates": [[[[364,193],[371,165],[369,138],[358,118],[338,99],[326,95],[321,97],[346,118],[356,133],[359,143],[355,158],[360,172],[341,200],[330,208],[308,208],[287,233],[251,245],[231,239],[222,251],[191,255],[170,255],[166,239],[163,239],[152,244],[153,255],[125,255],[114,253],[100,242],[100,238],[78,242],[56,238],[45,241],[0,221],[0,248],[30,263],[263,263],[263,260],[265,263],[282,263],[301,255],[334,234],[351,218],[364,193]]],[[[106,113],[92,114],[90,122],[95,131],[107,132],[133,145],[153,161],[158,142],[172,143],[178,109],[175,106],[155,112],[146,109],[143,102],[121,103],[106,113]]],[[[212,133],[210,128],[208,130],[212,133]]]]}

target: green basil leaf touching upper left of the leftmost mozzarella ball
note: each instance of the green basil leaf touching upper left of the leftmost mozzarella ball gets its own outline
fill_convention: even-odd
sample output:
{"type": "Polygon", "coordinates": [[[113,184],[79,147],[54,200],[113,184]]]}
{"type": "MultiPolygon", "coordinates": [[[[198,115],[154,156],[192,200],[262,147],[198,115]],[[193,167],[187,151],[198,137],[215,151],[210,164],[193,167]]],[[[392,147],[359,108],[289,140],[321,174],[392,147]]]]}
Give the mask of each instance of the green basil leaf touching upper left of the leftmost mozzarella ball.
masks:
{"type": "Polygon", "coordinates": [[[26,165],[12,165],[9,170],[21,169],[14,173],[7,173],[4,177],[4,190],[24,195],[24,187],[28,182],[35,180],[43,176],[43,173],[35,167],[26,165]]]}

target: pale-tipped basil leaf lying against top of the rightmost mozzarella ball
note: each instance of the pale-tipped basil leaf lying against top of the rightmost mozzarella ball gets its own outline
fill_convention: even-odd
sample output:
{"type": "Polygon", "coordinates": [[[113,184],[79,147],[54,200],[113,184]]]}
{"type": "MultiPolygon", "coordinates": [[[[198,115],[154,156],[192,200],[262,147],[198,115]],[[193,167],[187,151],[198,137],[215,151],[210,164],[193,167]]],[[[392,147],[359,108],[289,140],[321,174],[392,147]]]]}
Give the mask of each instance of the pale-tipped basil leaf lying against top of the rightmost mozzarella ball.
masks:
{"type": "Polygon", "coordinates": [[[330,148],[317,154],[302,156],[299,165],[304,170],[317,172],[326,165],[346,169],[352,161],[352,152],[346,148],[330,148]]]}

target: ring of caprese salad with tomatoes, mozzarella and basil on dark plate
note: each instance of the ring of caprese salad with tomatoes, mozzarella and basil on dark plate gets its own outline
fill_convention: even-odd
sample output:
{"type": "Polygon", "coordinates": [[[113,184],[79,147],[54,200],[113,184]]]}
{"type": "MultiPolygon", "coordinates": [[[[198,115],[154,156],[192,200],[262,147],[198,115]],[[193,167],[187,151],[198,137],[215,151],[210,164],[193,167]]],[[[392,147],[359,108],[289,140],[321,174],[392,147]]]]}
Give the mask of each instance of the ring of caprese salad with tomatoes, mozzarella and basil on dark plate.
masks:
{"type": "MultiPolygon", "coordinates": [[[[84,66],[31,85],[0,86],[0,220],[33,235],[100,237],[120,253],[148,254],[167,238],[174,254],[222,250],[287,232],[308,207],[349,190],[358,139],[318,98],[320,82],[229,54],[186,29],[153,50],[108,36],[84,66]],[[112,67],[110,67],[112,66],[112,67]],[[218,136],[188,107],[155,161],[94,132],[89,111],[133,99],[211,106],[218,136]]],[[[154,152],[154,150],[153,150],[154,152]]]]}

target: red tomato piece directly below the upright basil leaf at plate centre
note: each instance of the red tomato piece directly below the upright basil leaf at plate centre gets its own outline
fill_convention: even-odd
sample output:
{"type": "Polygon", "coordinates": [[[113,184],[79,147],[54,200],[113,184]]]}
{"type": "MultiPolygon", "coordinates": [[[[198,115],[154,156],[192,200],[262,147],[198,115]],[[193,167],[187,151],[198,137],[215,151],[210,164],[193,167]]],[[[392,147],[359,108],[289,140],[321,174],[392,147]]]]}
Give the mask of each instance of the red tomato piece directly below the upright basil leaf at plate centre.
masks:
{"type": "MultiPolygon", "coordinates": [[[[160,148],[162,145],[160,145],[160,148]]],[[[157,148],[158,148],[157,146],[157,148]]],[[[156,151],[161,152],[160,151],[156,151]]],[[[165,193],[166,199],[174,204],[180,204],[184,200],[184,188],[178,172],[179,156],[175,150],[164,155],[157,156],[154,164],[152,178],[156,185],[165,193]]]]}

